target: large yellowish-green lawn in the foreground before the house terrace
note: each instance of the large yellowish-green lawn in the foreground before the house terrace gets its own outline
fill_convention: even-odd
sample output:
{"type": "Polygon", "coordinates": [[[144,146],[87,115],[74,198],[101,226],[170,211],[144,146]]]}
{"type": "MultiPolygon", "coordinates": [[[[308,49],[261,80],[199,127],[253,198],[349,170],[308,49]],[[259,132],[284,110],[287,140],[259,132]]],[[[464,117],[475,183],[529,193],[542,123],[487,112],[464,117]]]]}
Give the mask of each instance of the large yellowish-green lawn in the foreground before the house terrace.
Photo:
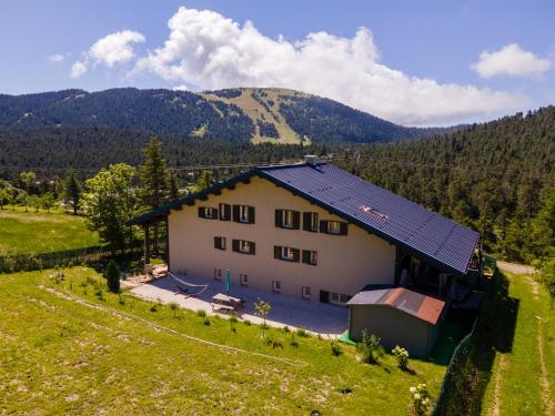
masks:
{"type": "Polygon", "coordinates": [[[390,355],[362,364],[350,345],[333,356],[316,337],[295,335],[295,346],[283,329],[266,331],[271,345],[260,326],[205,325],[192,312],[105,293],[92,268],[65,270],[60,283],[51,273],[0,277],[0,414],[397,416],[407,414],[410,386],[427,383],[435,397],[444,376],[421,361],[404,373],[390,355]]]}

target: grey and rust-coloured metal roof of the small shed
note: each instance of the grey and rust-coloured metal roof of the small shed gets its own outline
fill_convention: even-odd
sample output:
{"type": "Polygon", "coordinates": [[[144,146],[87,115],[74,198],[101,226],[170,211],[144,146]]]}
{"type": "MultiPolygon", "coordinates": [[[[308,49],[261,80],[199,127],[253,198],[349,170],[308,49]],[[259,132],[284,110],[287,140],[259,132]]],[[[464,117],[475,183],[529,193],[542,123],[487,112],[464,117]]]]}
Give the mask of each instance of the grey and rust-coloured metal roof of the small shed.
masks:
{"type": "Polygon", "coordinates": [[[390,306],[435,325],[442,315],[445,302],[404,287],[396,287],[359,292],[347,302],[347,306],[353,305],[390,306]]]}

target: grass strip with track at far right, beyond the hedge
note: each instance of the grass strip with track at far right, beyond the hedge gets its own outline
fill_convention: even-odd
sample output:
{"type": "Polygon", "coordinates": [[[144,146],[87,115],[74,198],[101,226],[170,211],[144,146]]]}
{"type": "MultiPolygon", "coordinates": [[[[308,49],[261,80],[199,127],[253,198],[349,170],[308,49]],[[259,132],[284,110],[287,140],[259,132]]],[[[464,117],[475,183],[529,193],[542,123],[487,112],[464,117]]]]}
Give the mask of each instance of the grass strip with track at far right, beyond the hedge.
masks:
{"type": "Polygon", "coordinates": [[[512,348],[498,352],[483,415],[555,413],[555,310],[533,276],[504,273],[518,305],[512,348]]]}

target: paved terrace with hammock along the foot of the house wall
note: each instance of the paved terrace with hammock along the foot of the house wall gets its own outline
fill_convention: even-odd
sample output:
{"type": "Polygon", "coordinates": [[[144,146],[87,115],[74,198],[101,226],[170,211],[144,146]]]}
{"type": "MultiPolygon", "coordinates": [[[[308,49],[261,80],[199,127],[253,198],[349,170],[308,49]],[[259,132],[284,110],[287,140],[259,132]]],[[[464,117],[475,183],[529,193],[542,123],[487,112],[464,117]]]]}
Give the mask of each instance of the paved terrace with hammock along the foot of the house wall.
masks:
{"type": "MultiPolygon", "coordinates": [[[[168,304],[175,302],[181,307],[199,311],[204,310],[209,315],[216,315],[210,306],[212,296],[216,293],[225,293],[223,282],[205,280],[192,276],[179,276],[181,280],[203,285],[209,284],[208,290],[199,296],[188,296],[176,291],[170,277],[159,278],[131,288],[134,295],[168,304]]],[[[194,292],[194,290],[193,290],[194,292]]],[[[274,327],[289,326],[290,328],[304,328],[323,335],[340,335],[347,328],[349,312],[346,307],[333,306],[317,301],[303,301],[300,297],[280,295],[278,293],[261,291],[252,287],[232,285],[231,296],[245,300],[243,308],[238,311],[238,317],[249,319],[253,324],[261,324],[262,319],[254,316],[254,303],[261,298],[270,302],[268,325],[274,327]]],[[[228,315],[218,313],[226,317],[228,315]]]]}

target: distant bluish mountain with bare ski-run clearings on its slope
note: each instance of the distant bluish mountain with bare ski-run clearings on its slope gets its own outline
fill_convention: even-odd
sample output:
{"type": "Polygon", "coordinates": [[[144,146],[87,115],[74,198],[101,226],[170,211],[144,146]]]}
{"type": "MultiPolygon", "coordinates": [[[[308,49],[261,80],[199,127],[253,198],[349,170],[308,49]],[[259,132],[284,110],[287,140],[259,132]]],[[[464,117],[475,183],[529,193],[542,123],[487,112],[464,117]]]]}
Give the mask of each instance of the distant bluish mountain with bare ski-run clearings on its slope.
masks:
{"type": "Polygon", "coordinates": [[[333,100],[283,89],[64,90],[0,95],[0,129],[104,128],[253,143],[371,143],[445,129],[405,128],[333,100]]]}

